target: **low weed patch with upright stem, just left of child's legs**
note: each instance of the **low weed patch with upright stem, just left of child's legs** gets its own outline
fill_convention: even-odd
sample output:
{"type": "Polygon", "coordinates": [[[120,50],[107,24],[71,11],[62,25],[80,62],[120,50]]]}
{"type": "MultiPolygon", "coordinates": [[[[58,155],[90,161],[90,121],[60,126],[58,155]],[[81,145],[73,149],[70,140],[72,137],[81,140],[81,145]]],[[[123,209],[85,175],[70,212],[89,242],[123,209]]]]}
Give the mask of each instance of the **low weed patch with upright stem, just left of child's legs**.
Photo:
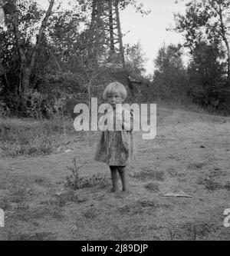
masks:
{"type": "Polygon", "coordinates": [[[90,177],[80,177],[79,169],[86,165],[86,162],[82,165],[77,164],[77,159],[74,158],[73,166],[67,167],[71,171],[71,175],[67,176],[66,187],[73,190],[80,188],[90,188],[94,186],[99,186],[100,188],[105,188],[109,185],[110,181],[107,175],[101,175],[100,173],[90,176],[90,177]]]}

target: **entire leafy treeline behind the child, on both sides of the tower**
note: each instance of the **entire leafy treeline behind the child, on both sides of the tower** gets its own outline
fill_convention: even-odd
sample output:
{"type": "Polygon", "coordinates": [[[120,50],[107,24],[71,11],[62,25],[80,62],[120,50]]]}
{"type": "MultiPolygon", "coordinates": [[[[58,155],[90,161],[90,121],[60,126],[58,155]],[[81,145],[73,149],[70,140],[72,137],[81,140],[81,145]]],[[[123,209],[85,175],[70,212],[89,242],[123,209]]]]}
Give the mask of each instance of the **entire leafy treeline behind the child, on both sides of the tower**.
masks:
{"type": "MultiPolygon", "coordinates": [[[[120,70],[119,56],[105,47],[100,21],[90,22],[92,1],[73,1],[68,9],[54,0],[47,8],[28,0],[0,3],[1,115],[63,114],[67,102],[100,97],[111,72],[120,70]]],[[[134,0],[120,1],[120,9],[128,5],[147,13],[134,0]]],[[[142,101],[189,100],[230,111],[229,10],[229,0],[187,1],[186,14],[175,15],[172,28],[182,33],[184,44],[159,49],[148,86],[134,84],[142,101]]],[[[125,45],[124,51],[127,71],[143,78],[146,58],[140,44],[125,45]]]]}

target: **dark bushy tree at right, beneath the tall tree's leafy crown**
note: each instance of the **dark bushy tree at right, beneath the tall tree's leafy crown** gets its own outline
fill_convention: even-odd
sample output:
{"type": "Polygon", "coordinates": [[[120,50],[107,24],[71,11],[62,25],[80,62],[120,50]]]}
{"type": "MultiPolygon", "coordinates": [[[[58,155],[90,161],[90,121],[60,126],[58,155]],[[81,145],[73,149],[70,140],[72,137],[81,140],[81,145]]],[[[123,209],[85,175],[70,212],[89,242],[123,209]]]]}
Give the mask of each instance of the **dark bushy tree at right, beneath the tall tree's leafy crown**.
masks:
{"type": "Polygon", "coordinates": [[[220,107],[225,105],[225,62],[219,59],[224,52],[218,45],[200,42],[193,50],[188,67],[189,97],[203,106],[220,107]]]}

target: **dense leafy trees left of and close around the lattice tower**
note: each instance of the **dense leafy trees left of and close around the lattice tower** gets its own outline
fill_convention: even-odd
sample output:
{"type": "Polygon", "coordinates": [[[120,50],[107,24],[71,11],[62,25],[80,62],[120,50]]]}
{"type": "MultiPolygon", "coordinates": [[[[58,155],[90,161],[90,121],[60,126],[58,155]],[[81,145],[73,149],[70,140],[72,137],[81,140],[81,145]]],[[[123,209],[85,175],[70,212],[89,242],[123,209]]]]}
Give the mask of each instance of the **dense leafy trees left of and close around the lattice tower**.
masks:
{"type": "MultiPolygon", "coordinates": [[[[117,55],[105,46],[100,20],[90,22],[92,1],[51,0],[46,9],[28,0],[3,0],[0,26],[0,112],[2,115],[52,117],[71,99],[102,95],[110,73],[119,70],[117,55]]],[[[120,9],[135,0],[120,2],[120,9]]],[[[144,71],[140,45],[125,45],[126,68],[144,71]]],[[[72,105],[73,106],[73,105],[72,105]]],[[[73,110],[71,109],[71,112],[73,110]]]]}

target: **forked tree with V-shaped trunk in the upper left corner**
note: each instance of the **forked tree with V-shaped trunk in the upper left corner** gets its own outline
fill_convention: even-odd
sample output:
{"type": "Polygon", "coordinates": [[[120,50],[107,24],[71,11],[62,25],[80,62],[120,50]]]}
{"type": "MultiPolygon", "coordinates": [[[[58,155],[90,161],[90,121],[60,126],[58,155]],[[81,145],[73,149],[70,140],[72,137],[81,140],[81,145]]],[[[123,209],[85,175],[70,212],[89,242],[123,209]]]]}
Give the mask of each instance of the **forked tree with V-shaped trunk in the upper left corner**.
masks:
{"type": "Polygon", "coordinates": [[[38,49],[41,46],[44,30],[47,28],[48,19],[51,16],[54,0],[51,0],[47,12],[41,21],[41,26],[36,35],[36,42],[31,42],[30,28],[38,22],[41,17],[41,11],[35,2],[22,2],[16,0],[3,0],[3,10],[5,15],[5,24],[8,30],[14,35],[15,45],[21,66],[21,77],[19,91],[23,95],[30,86],[31,71],[35,66],[38,49]],[[24,29],[22,29],[24,28],[24,29]],[[27,33],[28,32],[28,33],[27,33]]]}

